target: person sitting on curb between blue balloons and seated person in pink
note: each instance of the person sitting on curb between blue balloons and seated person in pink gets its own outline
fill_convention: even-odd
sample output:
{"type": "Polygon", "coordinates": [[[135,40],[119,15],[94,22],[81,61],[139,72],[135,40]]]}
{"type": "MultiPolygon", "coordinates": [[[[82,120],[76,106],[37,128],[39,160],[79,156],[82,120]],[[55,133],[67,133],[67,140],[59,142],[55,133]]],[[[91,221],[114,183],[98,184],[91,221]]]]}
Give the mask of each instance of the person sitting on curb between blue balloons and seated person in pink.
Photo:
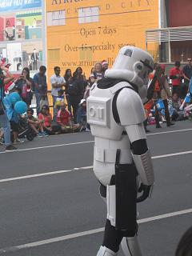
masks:
{"type": "Polygon", "coordinates": [[[43,120],[34,118],[33,114],[34,114],[34,110],[32,108],[30,108],[26,111],[27,122],[30,125],[31,129],[34,130],[34,133],[38,137],[42,137],[43,136],[43,127],[41,126],[41,124],[43,123],[43,120]]]}

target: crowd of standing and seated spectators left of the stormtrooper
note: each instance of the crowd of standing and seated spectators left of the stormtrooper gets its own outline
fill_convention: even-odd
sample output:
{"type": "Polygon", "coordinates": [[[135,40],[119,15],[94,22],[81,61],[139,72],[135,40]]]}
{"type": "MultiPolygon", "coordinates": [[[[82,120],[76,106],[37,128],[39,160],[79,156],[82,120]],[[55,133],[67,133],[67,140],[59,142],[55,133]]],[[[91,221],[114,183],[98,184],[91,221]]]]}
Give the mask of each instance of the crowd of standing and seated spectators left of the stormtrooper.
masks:
{"type": "Polygon", "coordinates": [[[23,142],[19,138],[20,120],[25,120],[34,136],[37,137],[90,131],[90,126],[86,122],[86,98],[89,97],[90,86],[104,77],[107,68],[106,61],[98,62],[90,70],[90,77],[86,78],[80,66],[74,72],[67,69],[63,75],[61,75],[60,67],[55,66],[54,74],[50,77],[52,100],[49,102],[46,66],[40,66],[34,78],[30,77],[30,70],[24,68],[21,75],[15,79],[9,69],[0,63],[0,82],[2,82],[0,99],[3,113],[0,116],[0,143],[5,144],[8,150],[9,147],[10,150],[16,150],[13,144],[23,142]],[[14,111],[9,112],[10,106],[5,102],[13,92],[17,92],[22,101],[26,102],[26,114],[18,115],[14,111]],[[35,98],[36,106],[31,104],[33,98],[35,98]],[[50,106],[53,110],[50,110],[50,106]]]}

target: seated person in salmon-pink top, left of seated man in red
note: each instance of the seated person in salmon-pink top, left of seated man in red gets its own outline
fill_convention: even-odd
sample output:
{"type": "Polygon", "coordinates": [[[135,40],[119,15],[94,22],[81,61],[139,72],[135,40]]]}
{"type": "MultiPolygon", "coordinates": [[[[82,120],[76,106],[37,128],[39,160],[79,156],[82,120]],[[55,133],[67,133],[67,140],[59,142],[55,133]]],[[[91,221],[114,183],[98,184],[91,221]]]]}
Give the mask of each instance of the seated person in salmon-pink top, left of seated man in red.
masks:
{"type": "Polygon", "coordinates": [[[50,114],[50,108],[47,105],[42,106],[42,110],[38,114],[38,119],[42,120],[43,122],[39,124],[40,129],[43,129],[43,135],[48,136],[49,134],[52,134],[52,115],[50,114]],[[42,126],[42,127],[41,127],[42,126]]]}

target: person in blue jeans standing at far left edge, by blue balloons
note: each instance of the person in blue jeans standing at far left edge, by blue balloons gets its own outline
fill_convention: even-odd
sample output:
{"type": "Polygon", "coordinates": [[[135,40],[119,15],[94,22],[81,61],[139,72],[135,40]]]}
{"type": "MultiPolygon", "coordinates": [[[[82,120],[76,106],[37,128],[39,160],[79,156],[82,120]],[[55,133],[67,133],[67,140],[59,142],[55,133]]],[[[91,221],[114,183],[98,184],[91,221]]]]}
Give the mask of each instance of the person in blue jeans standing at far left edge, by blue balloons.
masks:
{"type": "Polygon", "coordinates": [[[12,146],[10,142],[10,122],[7,118],[6,109],[3,104],[4,86],[12,80],[14,80],[13,75],[10,74],[5,66],[0,64],[0,125],[2,126],[4,133],[6,151],[18,150],[16,147],[12,146]]]}

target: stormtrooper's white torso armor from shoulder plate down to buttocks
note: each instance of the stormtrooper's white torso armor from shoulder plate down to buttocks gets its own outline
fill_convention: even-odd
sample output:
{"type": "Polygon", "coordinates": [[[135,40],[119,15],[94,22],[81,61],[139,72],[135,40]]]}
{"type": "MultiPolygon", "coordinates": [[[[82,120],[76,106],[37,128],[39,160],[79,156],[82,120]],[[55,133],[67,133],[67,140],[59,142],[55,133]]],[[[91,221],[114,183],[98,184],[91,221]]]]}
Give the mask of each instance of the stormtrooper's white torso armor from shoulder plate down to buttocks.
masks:
{"type": "Polygon", "coordinates": [[[87,99],[87,122],[90,123],[91,133],[94,135],[94,174],[103,185],[109,184],[111,175],[114,174],[118,149],[121,150],[121,163],[133,162],[130,139],[127,134],[122,134],[124,126],[140,124],[145,120],[141,98],[133,89],[125,88],[126,86],[132,88],[128,82],[118,82],[108,89],[99,89],[97,83],[94,83],[87,99]],[[112,110],[114,95],[120,89],[122,90],[118,98],[129,102],[128,105],[124,102],[122,109],[121,104],[117,106],[121,119],[124,116],[122,124],[115,122],[112,110]],[[138,107],[134,108],[133,102],[138,102],[138,107]]]}

